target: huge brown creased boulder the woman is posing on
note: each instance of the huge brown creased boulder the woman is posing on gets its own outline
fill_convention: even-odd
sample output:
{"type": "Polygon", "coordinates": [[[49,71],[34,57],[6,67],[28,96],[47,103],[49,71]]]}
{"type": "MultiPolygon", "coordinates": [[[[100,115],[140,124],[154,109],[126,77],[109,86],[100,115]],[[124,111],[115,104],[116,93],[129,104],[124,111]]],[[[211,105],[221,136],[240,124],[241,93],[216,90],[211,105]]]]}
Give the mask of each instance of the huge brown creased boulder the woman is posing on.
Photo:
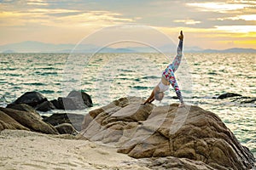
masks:
{"type": "Polygon", "coordinates": [[[174,156],[216,169],[253,167],[253,154],[216,114],[198,106],[141,103],[130,97],[90,111],[79,137],[117,146],[135,158],[174,156]]]}

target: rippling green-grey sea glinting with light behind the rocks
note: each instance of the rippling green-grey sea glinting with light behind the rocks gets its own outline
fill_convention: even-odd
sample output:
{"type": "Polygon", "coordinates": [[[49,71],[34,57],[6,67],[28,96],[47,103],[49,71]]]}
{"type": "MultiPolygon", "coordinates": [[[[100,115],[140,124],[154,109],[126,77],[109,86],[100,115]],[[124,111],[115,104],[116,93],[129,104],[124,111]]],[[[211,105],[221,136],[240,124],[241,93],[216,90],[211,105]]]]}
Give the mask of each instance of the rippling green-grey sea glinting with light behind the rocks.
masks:
{"type": "MultiPolygon", "coordinates": [[[[175,54],[0,54],[0,106],[37,91],[47,99],[65,97],[73,89],[90,94],[94,106],[114,99],[147,99],[175,54]]],[[[184,53],[175,72],[184,101],[217,114],[241,144],[256,156],[256,105],[216,99],[225,93],[256,98],[256,54],[184,53]]],[[[172,88],[154,105],[178,103],[172,88]]],[[[50,115],[58,111],[41,112],[50,115]]]]}

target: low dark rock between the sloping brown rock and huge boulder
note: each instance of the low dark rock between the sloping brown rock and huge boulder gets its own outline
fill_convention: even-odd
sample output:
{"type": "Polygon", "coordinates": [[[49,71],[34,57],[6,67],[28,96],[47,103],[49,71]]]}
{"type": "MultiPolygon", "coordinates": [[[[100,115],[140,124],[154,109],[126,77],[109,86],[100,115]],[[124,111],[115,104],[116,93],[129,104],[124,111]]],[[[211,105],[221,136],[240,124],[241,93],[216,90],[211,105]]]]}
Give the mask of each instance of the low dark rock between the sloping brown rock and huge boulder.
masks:
{"type": "Polygon", "coordinates": [[[49,117],[44,118],[44,122],[47,122],[53,126],[57,126],[62,123],[70,123],[76,130],[81,130],[81,125],[84,120],[84,115],[74,113],[55,113],[49,117]]]}

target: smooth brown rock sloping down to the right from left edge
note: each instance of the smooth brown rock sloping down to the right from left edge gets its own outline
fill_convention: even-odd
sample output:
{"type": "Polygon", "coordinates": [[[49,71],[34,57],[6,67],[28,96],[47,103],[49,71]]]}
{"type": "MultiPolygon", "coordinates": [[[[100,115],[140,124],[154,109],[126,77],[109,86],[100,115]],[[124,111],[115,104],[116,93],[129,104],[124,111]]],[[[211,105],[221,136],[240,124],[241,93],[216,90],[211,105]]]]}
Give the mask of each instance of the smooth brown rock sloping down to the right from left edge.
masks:
{"type": "Polygon", "coordinates": [[[3,111],[8,116],[15,119],[16,122],[19,122],[22,126],[27,127],[32,131],[39,133],[58,134],[58,131],[55,129],[55,127],[52,127],[46,122],[43,122],[41,119],[38,119],[38,116],[35,116],[31,112],[18,111],[2,107],[0,107],[0,111],[3,111]]]}

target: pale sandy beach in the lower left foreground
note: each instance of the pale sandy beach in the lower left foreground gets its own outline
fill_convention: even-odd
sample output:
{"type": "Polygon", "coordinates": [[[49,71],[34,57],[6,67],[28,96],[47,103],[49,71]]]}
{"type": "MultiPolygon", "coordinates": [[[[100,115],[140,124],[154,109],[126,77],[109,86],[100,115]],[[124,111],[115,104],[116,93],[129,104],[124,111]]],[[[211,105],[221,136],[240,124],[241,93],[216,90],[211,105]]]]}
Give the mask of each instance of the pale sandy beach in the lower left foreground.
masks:
{"type": "Polygon", "coordinates": [[[3,130],[0,169],[148,169],[116,149],[67,137],[3,130]]]}

